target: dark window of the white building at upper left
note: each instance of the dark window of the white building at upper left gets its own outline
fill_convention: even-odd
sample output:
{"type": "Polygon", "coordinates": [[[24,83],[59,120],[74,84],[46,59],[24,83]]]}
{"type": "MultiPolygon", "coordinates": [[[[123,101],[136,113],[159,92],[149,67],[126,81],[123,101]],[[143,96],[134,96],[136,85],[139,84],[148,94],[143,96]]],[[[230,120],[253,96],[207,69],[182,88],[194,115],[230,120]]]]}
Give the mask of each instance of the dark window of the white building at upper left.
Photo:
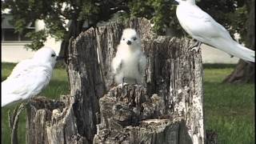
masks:
{"type": "Polygon", "coordinates": [[[34,22],[30,22],[22,33],[15,33],[14,26],[10,24],[12,16],[10,14],[2,15],[2,42],[30,42],[31,39],[26,37],[28,32],[35,30],[34,22]]]}

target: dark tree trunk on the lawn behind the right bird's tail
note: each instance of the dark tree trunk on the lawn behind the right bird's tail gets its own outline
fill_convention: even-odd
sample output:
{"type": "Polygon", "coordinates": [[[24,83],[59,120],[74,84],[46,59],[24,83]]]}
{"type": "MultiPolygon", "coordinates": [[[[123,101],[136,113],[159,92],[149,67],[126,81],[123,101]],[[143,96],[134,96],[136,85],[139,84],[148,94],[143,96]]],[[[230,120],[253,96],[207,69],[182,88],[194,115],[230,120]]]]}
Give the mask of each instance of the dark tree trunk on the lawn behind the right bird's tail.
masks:
{"type": "MultiPolygon", "coordinates": [[[[255,50],[255,0],[247,2],[247,10],[249,10],[249,17],[247,20],[247,36],[246,46],[255,50]]],[[[255,65],[254,63],[244,62],[239,60],[238,65],[234,71],[225,78],[224,82],[229,83],[248,83],[255,82],[255,65]]]]}

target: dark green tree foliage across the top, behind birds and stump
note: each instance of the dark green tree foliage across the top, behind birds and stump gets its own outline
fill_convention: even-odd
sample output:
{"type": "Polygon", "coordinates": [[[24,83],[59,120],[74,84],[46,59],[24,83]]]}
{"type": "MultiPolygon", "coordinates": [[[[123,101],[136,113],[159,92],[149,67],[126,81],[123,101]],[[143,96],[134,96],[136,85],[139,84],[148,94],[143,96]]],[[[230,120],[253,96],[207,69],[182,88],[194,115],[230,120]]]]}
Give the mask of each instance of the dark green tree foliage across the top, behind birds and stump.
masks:
{"type": "MultiPolygon", "coordinates": [[[[71,36],[76,37],[82,30],[110,19],[118,11],[122,11],[126,18],[136,16],[150,19],[158,34],[165,34],[167,28],[177,36],[186,34],[175,16],[175,3],[174,0],[5,0],[2,1],[2,9],[11,10],[14,26],[19,32],[28,22],[44,20],[47,28],[44,33],[39,31],[27,35],[33,37],[29,47],[37,50],[46,41],[47,35],[68,42],[71,36]]],[[[245,3],[245,0],[198,0],[197,4],[230,30],[232,35],[236,32],[241,34],[244,42],[247,18],[245,3]]]]}

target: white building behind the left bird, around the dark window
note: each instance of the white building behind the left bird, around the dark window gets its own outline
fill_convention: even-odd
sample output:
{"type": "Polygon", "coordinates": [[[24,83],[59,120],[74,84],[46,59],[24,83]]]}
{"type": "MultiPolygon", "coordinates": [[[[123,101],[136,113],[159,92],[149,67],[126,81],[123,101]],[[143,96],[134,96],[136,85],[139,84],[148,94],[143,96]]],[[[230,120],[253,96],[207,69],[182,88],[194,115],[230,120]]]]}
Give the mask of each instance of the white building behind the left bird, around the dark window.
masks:
{"type": "MultiPolygon", "coordinates": [[[[26,26],[24,34],[17,34],[14,33],[14,26],[9,22],[11,18],[12,16],[10,14],[2,14],[1,62],[20,62],[23,59],[32,58],[34,51],[25,48],[25,45],[29,44],[31,40],[30,38],[26,38],[25,34],[33,30],[44,29],[44,22],[30,22],[26,26]]],[[[57,42],[54,38],[48,37],[44,44],[45,46],[52,47],[58,54],[61,42],[57,42]]]]}

